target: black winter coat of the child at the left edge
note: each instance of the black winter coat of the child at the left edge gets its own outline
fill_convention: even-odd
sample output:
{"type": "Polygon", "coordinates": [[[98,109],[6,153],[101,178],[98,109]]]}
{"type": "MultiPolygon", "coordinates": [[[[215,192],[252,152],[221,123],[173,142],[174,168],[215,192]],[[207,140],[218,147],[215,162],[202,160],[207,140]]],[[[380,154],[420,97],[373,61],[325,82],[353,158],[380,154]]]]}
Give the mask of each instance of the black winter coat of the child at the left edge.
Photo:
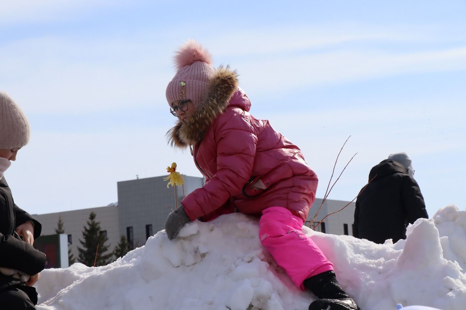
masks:
{"type": "MultiPolygon", "coordinates": [[[[14,204],[5,178],[0,179],[0,267],[35,275],[45,267],[45,254],[21,240],[14,231],[21,224],[34,222],[34,240],[41,235],[42,226],[26,211],[14,204]]],[[[0,275],[0,290],[12,277],[0,275]]]]}

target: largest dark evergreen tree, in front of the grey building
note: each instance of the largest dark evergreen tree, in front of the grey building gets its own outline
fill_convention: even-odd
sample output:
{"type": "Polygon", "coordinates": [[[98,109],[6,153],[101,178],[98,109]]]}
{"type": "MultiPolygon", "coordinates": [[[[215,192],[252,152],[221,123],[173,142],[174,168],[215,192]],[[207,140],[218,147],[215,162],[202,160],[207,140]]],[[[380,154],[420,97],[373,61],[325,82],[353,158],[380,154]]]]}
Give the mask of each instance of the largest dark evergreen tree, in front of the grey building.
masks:
{"type": "Polygon", "coordinates": [[[78,262],[89,267],[94,266],[98,244],[99,249],[97,251],[96,266],[103,266],[110,263],[113,252],[104,254],[108,251],[110,245],[105,244],[108,238],[100,233],[100,222],[96,222],[96,214],[94,212],[89,214],[87,225],[87,227],[84,226],[84,231],[82,232],[84,241],[79,239],[79,243],[81,243],[83,248],[78,247],[78,262]]]}

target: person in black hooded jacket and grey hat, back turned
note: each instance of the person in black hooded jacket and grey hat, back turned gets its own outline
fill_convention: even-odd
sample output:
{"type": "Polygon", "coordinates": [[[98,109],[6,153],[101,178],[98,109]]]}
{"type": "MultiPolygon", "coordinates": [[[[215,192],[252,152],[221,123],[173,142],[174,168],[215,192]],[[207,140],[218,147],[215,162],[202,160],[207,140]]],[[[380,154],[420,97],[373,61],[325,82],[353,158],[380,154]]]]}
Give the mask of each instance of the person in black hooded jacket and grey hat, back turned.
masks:
{"type": "Polygon", "coordinates": [[[369,173],[367,187],[356,199],[353,235],[374,243],[406,239],[406,227],[428,218],[424,198],[404,152],[388,156],[369,173]]]}

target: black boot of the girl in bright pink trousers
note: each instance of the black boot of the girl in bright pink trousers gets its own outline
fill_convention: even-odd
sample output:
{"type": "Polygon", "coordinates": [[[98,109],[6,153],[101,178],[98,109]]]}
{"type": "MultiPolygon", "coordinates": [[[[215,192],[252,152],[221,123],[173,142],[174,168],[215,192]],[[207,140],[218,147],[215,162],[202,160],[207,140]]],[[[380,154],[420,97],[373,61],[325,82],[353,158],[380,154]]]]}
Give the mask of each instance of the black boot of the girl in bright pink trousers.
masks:
{"type": "Polygon", "coordinates": [[[311,276],[303,284],[319,298],[309,310],[361,310],[336,281],[333,270],[311,276]]]}

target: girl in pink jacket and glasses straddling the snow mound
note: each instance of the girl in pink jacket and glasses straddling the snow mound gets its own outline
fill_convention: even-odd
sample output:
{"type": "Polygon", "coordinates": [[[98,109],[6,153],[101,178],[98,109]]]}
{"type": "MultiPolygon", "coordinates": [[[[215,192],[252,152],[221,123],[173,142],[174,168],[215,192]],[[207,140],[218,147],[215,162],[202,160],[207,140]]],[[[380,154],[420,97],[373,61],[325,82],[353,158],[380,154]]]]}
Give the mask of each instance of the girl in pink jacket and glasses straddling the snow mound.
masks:
{"type": "Polygon", "coordinates": [[[299,288],[320,298],[309,310],[359,309],[336,281],[332,263],[302,233],[318,180],[301,150],[249,114],[251,102],[236,72],[215,70],[198,43],[181,47],[176,63],[166,98],[178,122],[168,135],[172,146],[190,148],[206,184],[168,216],[168,237],[196,219],[233,212],[260,216],[261,243],[299,288]]]}

